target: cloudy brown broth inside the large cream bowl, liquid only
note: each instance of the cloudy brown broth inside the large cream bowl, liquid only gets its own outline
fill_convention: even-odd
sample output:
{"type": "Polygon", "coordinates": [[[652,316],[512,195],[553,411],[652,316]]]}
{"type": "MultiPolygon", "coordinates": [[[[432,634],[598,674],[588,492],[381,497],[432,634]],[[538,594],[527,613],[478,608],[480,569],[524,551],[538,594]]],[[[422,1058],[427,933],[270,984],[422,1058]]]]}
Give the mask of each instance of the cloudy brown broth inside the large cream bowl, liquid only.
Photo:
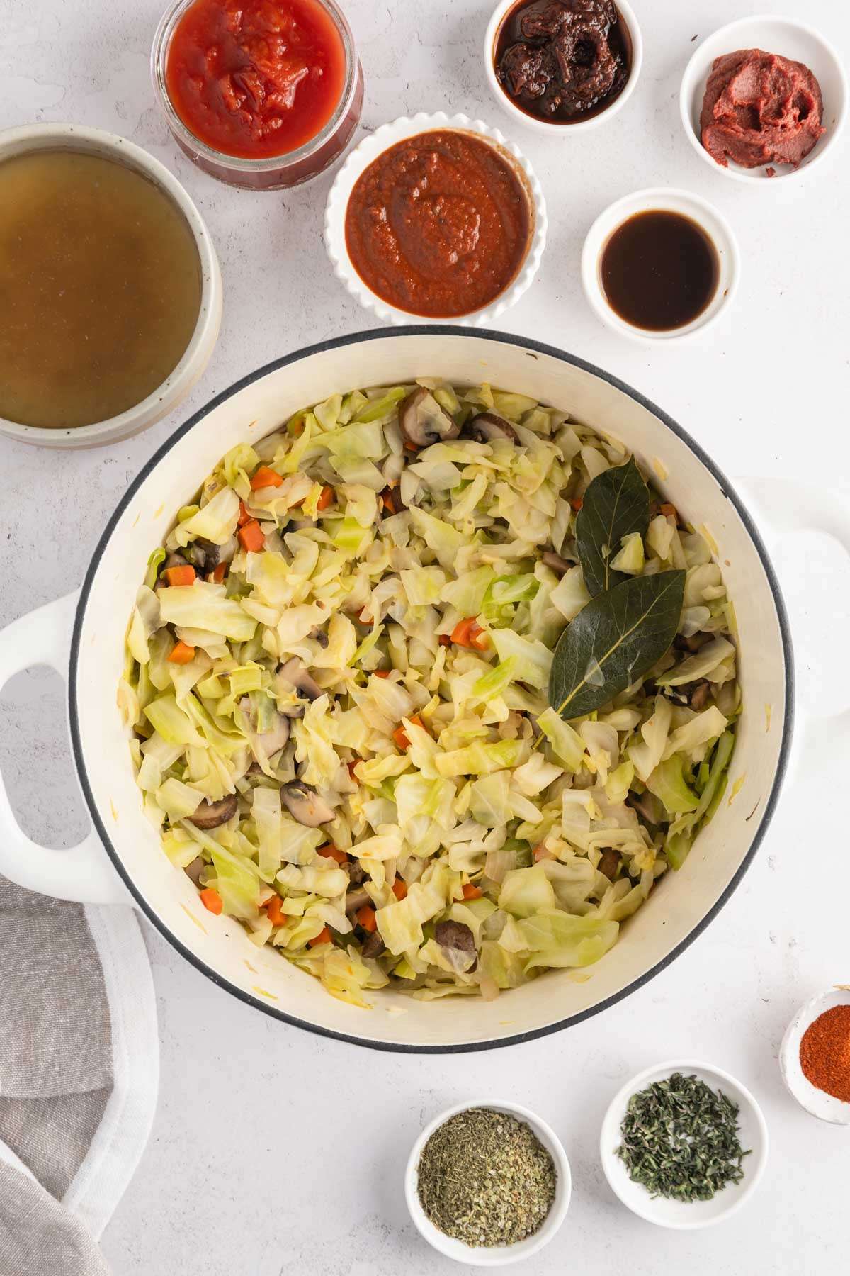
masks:
{"type": "Polygon", "coordinates": [[[134,168],[82,151],[0,163],[0,417],[74,429],[140,403],[200,296],[189,223],[134,168]]]}

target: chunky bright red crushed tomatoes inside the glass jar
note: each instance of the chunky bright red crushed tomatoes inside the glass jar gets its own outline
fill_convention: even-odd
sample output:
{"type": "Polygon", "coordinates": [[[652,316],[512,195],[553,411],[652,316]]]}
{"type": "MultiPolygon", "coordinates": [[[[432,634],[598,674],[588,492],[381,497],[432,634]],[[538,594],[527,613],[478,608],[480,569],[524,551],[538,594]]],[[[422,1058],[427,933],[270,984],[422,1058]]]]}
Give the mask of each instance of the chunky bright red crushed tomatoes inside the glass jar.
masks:
{"type": "Polygon", "coordinates": [[[345,48],[319,0],[195,0],[168,47],[166,87],[186,128],[264,160],[315,138],[345,84],[345,48]]]}

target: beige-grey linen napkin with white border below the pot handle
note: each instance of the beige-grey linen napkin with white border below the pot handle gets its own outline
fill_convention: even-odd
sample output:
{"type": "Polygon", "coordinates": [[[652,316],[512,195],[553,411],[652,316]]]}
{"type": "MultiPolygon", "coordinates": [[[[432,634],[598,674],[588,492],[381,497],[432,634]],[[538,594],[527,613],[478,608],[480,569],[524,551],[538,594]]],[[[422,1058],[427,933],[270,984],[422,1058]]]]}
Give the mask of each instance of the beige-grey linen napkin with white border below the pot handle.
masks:
{"type": "Polygon", "coordinates": [[[133,909],[0,878],[0,1276],[104,1276],[96,1238],[148,1138],[150,966],[133,909]]]}

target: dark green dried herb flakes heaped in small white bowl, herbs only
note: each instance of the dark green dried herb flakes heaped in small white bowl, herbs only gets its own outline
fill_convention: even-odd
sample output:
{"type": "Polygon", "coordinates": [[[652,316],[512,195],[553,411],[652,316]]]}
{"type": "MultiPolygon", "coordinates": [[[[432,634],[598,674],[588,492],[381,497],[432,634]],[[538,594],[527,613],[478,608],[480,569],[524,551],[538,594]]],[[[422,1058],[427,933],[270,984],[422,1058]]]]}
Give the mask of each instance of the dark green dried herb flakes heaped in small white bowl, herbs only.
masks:
{"type": "Polygon", "coordinates": [[[628,1176],[654,1197],[710,1201],[744,1176],[738,1106],[705,1081],[674,1072],[628,1100],[617,1148],[628,1176]]]}

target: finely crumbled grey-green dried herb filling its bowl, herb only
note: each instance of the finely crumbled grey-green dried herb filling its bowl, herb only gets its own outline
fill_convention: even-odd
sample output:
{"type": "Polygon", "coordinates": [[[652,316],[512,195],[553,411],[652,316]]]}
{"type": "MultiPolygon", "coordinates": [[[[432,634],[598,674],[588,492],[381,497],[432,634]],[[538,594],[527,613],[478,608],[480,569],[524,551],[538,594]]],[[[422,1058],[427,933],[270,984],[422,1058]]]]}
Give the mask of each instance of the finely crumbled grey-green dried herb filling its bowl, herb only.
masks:
{"type": "Polygon", "coordinates": [[[557,1173],[530,1125],[491,1108],[457,1113],[419,1157],[419,1202],[446,1236],[512,1245],[543,1225],[557,1173]]]}

